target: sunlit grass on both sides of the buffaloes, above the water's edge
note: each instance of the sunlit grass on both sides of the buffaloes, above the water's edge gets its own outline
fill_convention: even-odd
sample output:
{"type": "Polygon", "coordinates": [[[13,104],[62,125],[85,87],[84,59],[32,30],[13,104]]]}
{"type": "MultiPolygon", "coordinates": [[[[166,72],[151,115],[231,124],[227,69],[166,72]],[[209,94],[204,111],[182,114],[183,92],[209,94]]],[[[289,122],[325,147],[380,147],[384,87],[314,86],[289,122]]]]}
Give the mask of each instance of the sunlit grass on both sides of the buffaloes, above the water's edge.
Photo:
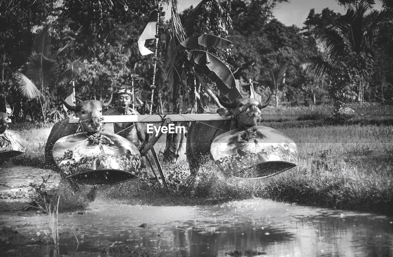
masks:
{"type": "MultiPolygon", "coordinates": [[[[224,176],[210,162],[189,186],[185,162],[163,164],[171,192],[147,179],[100,186],[102,197],[130,204],[193,205],[258,196],[290,203],[393,214],[393,107],[349,105],[353,116],[327,122],[332,106],[268,107],[262,126],[275,128],[298,146],[298,166],[277,176],[249,181],[224,176]]],[[[42,167],[50,128],[19,126],[29,142],[15,163],[42,167]]],[[[59,189],[59,190],[65,190],[59,189]]],[[[87,194],[88,190],[85,190],[87,194]]],[[[59,192],[50,192],[59,195],[59,192]]],[[[83,194],[67,194],[68,201],[83,194]]]]}

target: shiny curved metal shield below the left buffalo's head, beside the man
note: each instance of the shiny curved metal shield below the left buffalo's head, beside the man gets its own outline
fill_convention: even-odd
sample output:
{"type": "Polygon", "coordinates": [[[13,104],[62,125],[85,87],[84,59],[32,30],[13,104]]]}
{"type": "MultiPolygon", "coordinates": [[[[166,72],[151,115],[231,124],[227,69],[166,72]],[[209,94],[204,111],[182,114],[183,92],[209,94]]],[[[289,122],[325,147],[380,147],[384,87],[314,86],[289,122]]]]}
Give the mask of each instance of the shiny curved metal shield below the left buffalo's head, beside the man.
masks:
{"type": "Polygon", "coordinates": [[[141,166],[138,148],[108,132],[95,137],[76,133],[53,145],[53,159],[61,172],[77,183],[117,184],[137,177],[141,166]]]}

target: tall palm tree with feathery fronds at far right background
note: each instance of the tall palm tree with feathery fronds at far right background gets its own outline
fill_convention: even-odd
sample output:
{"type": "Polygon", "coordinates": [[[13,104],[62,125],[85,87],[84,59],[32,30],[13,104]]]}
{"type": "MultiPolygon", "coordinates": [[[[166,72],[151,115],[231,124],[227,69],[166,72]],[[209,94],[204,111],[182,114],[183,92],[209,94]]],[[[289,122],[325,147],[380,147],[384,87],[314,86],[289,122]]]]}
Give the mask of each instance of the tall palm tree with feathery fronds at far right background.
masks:
{"type": "Polygon", "coordinates": [[[302,65],[303,69],[312,68],[320,75],[332,76],[338,72],[352,72],[350,75],[356,80],[358,101],[361,102],[363,87],[372,73],[375,52],[378,49],[377,24],[386,15],[385,11],[381,11],[371,26],[367,26],[365,13],[368,10],[369,4],[365,1],[348,8],[336,26],[325,28],[317,39],[326,57],[314,55],[302,65]],[[343,67],[347,69],[343,70],[343,67]]]}

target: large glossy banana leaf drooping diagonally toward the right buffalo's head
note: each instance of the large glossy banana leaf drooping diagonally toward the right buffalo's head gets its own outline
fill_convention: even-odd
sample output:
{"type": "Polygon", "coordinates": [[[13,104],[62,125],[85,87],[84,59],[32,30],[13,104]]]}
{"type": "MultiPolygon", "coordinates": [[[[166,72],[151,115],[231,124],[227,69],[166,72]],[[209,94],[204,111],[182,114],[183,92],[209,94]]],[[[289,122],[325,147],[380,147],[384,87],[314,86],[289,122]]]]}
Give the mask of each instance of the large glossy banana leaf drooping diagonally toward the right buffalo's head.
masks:
{"type": "Polygon", "coordinates": [[[208,78],[216,83],[217,89],[228,97],[230,101],[235,101],[242,97],[236,87],[236,80],[233,74],[220,59],[213,54],[202,50],[193,50],[187,55],[189,61],[194,62],[208,78]]]}

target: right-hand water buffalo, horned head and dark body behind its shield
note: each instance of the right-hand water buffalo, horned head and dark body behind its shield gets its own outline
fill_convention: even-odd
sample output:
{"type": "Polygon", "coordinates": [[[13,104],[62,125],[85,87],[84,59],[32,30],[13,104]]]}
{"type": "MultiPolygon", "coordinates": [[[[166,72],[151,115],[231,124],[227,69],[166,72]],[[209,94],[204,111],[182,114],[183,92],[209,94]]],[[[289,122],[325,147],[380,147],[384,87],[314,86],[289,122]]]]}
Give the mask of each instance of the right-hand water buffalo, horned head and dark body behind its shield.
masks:
{"type": "Polygon", "coordinates": [[[269,104],[270,96],[263,104],[254,98],[239,98],[233,103],[226,103],[220,98],[219,101],[224,108],[219,108],[217,113],[225,118],[233,116],[232,121],[193,122],[188,129],[186,154],[193,176],[202,163],[211,159],[211,143],[217,136],[231,129],[246,129],[261,122],[261,109],[269,104]]]}

